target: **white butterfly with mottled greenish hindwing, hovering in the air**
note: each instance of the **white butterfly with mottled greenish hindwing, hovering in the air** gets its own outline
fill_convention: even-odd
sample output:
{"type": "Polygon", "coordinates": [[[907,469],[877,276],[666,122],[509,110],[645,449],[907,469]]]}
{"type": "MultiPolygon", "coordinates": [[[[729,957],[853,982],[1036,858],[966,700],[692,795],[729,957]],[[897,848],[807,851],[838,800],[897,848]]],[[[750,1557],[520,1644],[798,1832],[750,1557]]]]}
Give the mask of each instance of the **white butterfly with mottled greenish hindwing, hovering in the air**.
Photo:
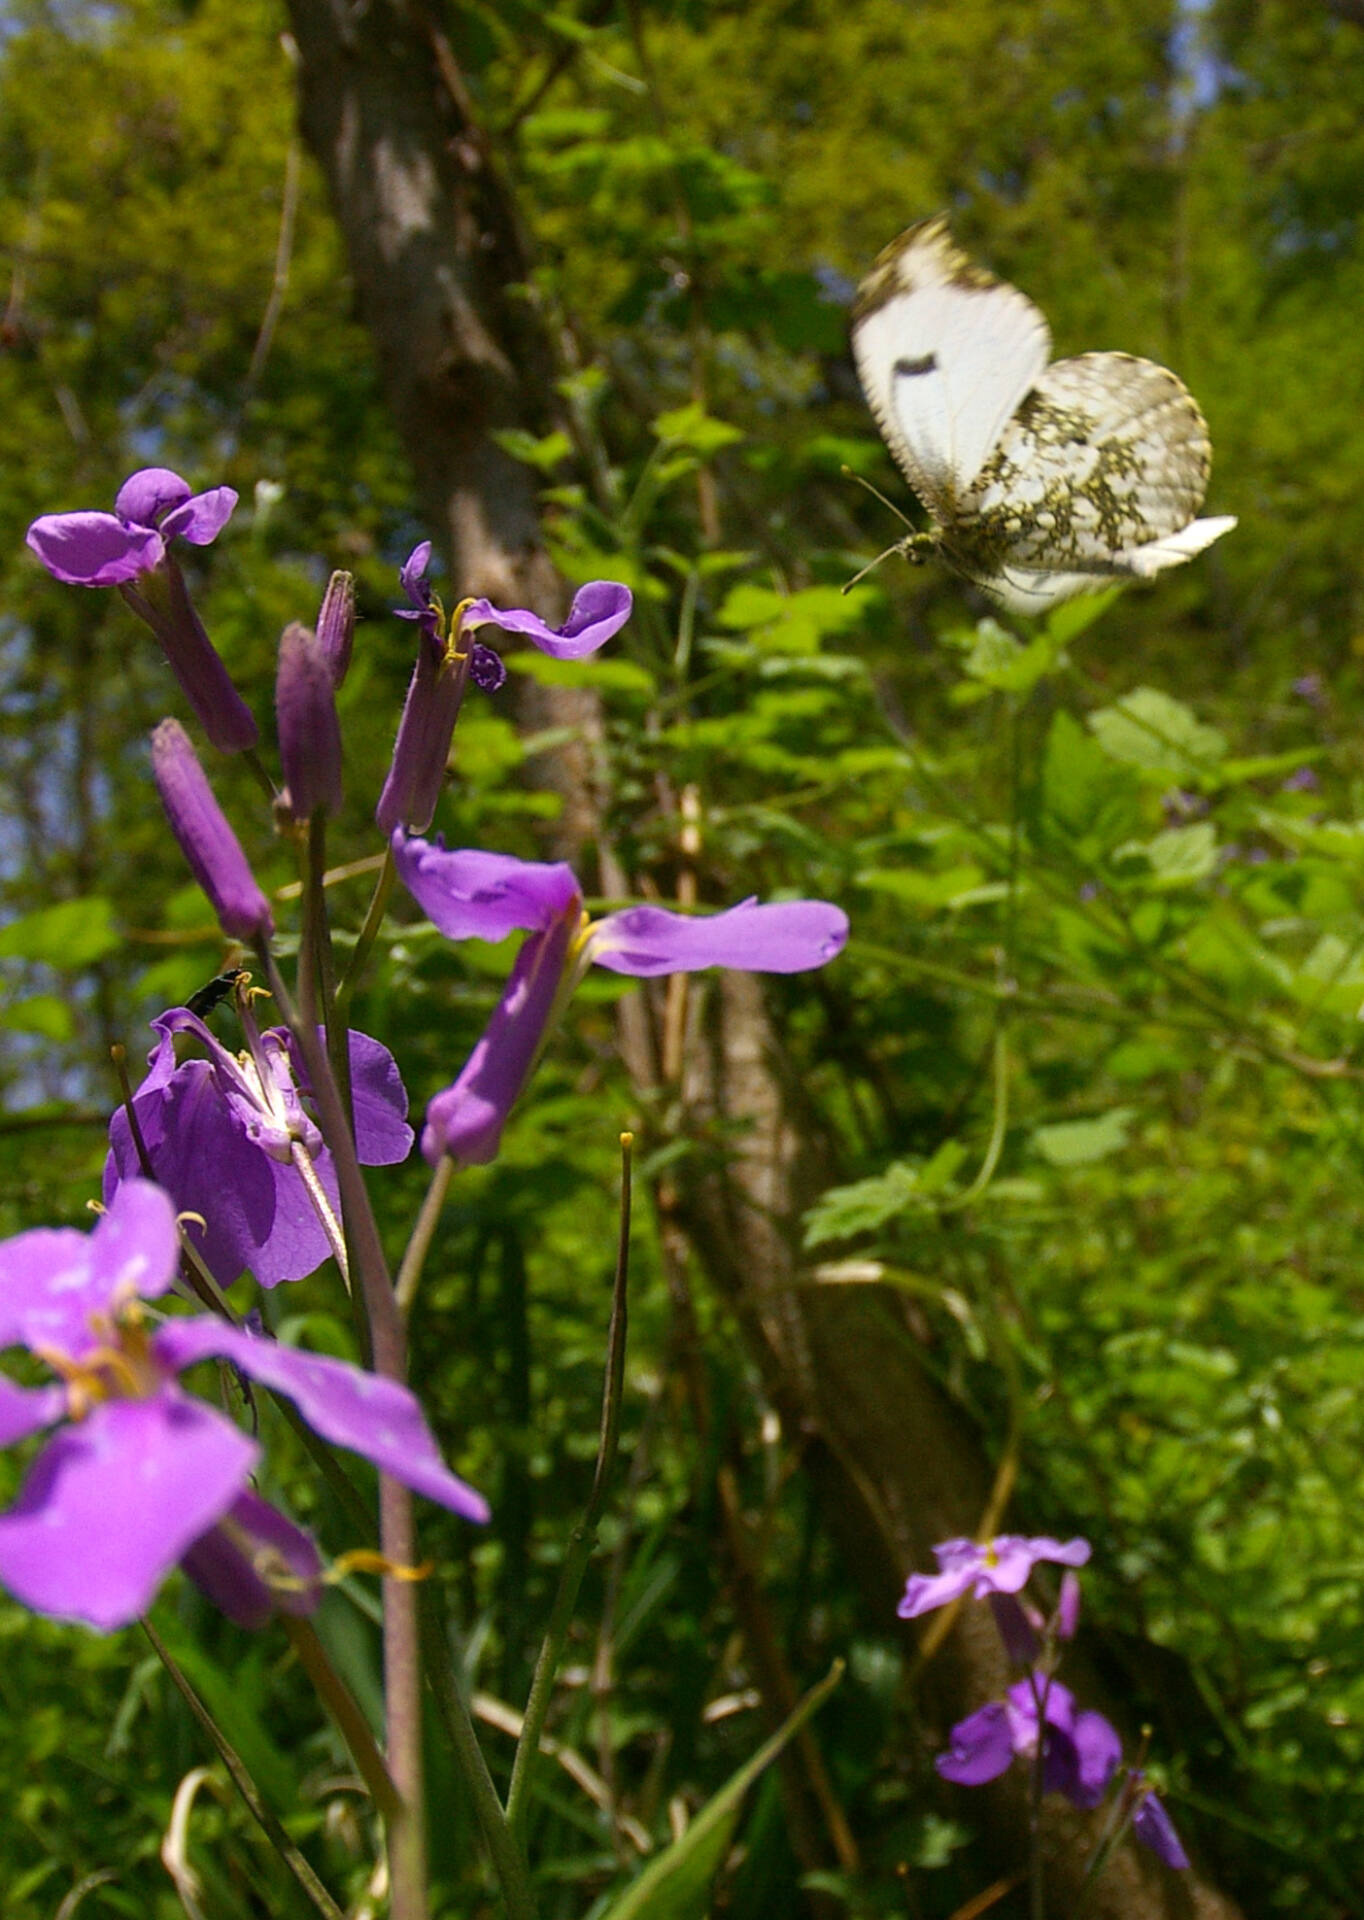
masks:
{"type": "Polygon", "coordinates": [[[857,290],[866,403],[936,522],[889,551],[939,553],[1018,612],[1149,580],[1235,526],[1195,518],[1212,447],[1181,380],[1130,353],[1049,353],[1037,307],[966,259],[941,213],[857,290]]]}

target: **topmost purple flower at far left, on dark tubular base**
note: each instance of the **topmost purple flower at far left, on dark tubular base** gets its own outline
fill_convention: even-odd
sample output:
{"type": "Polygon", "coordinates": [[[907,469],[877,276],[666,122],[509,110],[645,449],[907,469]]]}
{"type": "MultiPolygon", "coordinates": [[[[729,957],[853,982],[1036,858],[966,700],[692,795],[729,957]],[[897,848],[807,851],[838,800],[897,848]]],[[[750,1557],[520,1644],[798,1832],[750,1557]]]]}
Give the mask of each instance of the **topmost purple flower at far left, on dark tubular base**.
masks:
{"type": "Polygon", "coordinates": [[[188,482],[165,467],[144,467],[125,480],[113,513],[48,513],[27,540],[42,564],[71,586],[117,586],[133,612],[161,643],[171,672],[219,753],[240,753],[257,741],[250,707],[204,632],[184,574],[169,541],[207,545],[236,507],[231,486],[190,493],[188,482]],[[134,586],[136,582],[136,586],[134,586]]]}

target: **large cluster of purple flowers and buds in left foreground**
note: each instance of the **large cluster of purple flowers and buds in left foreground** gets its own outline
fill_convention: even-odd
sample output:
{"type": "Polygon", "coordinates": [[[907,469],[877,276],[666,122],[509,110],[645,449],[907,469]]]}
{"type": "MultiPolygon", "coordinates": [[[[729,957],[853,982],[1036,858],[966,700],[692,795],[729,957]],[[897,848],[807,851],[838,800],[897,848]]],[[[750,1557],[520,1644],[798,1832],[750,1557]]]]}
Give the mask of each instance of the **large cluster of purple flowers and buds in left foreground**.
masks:
{"type": "MultiPolygon", "coordinates": [[[[192,493],[165,468],[119,490],[115,511],[44,515],[29,545],[63,582],[113,586],[144,618],[209,741],[256,745],[240,701],[188,599],[175,541],[207,545],[236,505],[231,488],[192,493]]],[[[534,612],[461,601],[448,618],[428,580],[430,545],[402,568],[400,616],[419,636],[378,820],[402,879],[451,939],[524,935],[488,1031],[455,1081],[430,1102],[423,1150],[432,1164],[488,1162],[536,1056],[576,981],[597,964],[653,977],[709,966],[790,973],[832,960],[845,916],[820,900],[745,900],[707,918],[632,906],[592,922],[572,872],[492,852],[446,851],[411,837],[436,806],[465,684],[501,684],[498,655],[473,636],[499,628],[551,659],[594,653],[630,616],[630,591],[590,582],[561,626],[534,612]]],[[[336,718],[355,634],[355,593],[334,574],[317,628],[286,628],[275,712],[284,791],[277,826],[300,845],[342,804],[336,718]]],[[[152,737],[152,774],[171,829],[223,933],[265,948],[271,902],[177,720],[152,737]]],[[[133,1620],[183,1567],[234,1620],[317,1605],[317,1548],[248,1484],[257,1442],[181,1386],[200,1361],[229,1363],[294,1402],[325,1440],[473,1521],[486,1505],[440,1459],[400,1367],[365,1373],[277,1344],[223,1317],[163,1313],[154,1302],[177,1273],[219,1288],[250,1273],[261,1286],[298,1281],[332,1254],[348,1275],[336,1165],[323,1137],[304,1050],[286,1027],[261,1031],[240,973],[234,1010],[244,1046],[229,1050],[198,1012],[154,1020],[148,1073],[110,1125],[108,1212],[86,1235],[19,1235],[0,1246],[0,1344],[27,1348],[56,1377],[19,1386],[0,1375],[0,1444],[56,1428],[0,1515],[0,1582],[31,1607],[108,1630],[133,1620]]],[[[307,1041],[307,1033],[304,1033],[307,1041]]],[[[321,1071],[323,1054],[307,1050],[321,1071]]],[[[361,1165],[407,1158],[413,1131],[392,1054],[350,1033],[348,1104],[361,1165]]],[[[336,1112],[340,1098],[323,1110],[336,1112]]]]}

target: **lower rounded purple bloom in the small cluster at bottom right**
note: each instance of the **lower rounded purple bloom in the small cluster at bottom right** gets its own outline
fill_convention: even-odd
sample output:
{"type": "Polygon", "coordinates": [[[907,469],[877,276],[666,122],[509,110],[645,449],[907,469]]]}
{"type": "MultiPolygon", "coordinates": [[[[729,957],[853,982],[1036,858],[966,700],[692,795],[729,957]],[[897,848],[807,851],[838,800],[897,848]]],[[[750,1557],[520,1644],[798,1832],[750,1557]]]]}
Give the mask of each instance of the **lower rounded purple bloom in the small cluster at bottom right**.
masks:
{"type": "MultiPolygon", "coordinates": [[[[1037,1686],[1045,1686],[1043,1788],[1064,1793],[1074,1807],[1097,1807],[1122,1759],[1122,1741],[1101,1713],[1078,1713],[1074,1693],[1059,1680],[1037,1686]]],[[[949,1741],[934,1764],[943,1780],[959,1786],[984,1786],[1014,1759],[1032,1763],[1037,1753],[1034,1682],[1020,1680],[1003,1701],[959,1720],[949,1741]]]]}

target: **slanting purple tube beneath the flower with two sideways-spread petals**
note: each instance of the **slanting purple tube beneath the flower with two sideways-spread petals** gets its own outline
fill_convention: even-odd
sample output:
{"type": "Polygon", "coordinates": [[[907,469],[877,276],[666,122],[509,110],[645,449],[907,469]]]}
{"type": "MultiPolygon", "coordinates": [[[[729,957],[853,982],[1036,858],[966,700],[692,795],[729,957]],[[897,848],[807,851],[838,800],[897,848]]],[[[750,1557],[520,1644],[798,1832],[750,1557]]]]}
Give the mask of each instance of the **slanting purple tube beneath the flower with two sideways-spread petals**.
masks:
{"type": "Polygon", "coordinates": [[[544,933],[523,941],[501,1000],[459,1079],[426,1108],[421,1150],[432,1167],[442,1154],[467,1167],[496,1160],[501,1129],[536,1064],[576,929],[578,914],[571,904],[544,933]]]}

